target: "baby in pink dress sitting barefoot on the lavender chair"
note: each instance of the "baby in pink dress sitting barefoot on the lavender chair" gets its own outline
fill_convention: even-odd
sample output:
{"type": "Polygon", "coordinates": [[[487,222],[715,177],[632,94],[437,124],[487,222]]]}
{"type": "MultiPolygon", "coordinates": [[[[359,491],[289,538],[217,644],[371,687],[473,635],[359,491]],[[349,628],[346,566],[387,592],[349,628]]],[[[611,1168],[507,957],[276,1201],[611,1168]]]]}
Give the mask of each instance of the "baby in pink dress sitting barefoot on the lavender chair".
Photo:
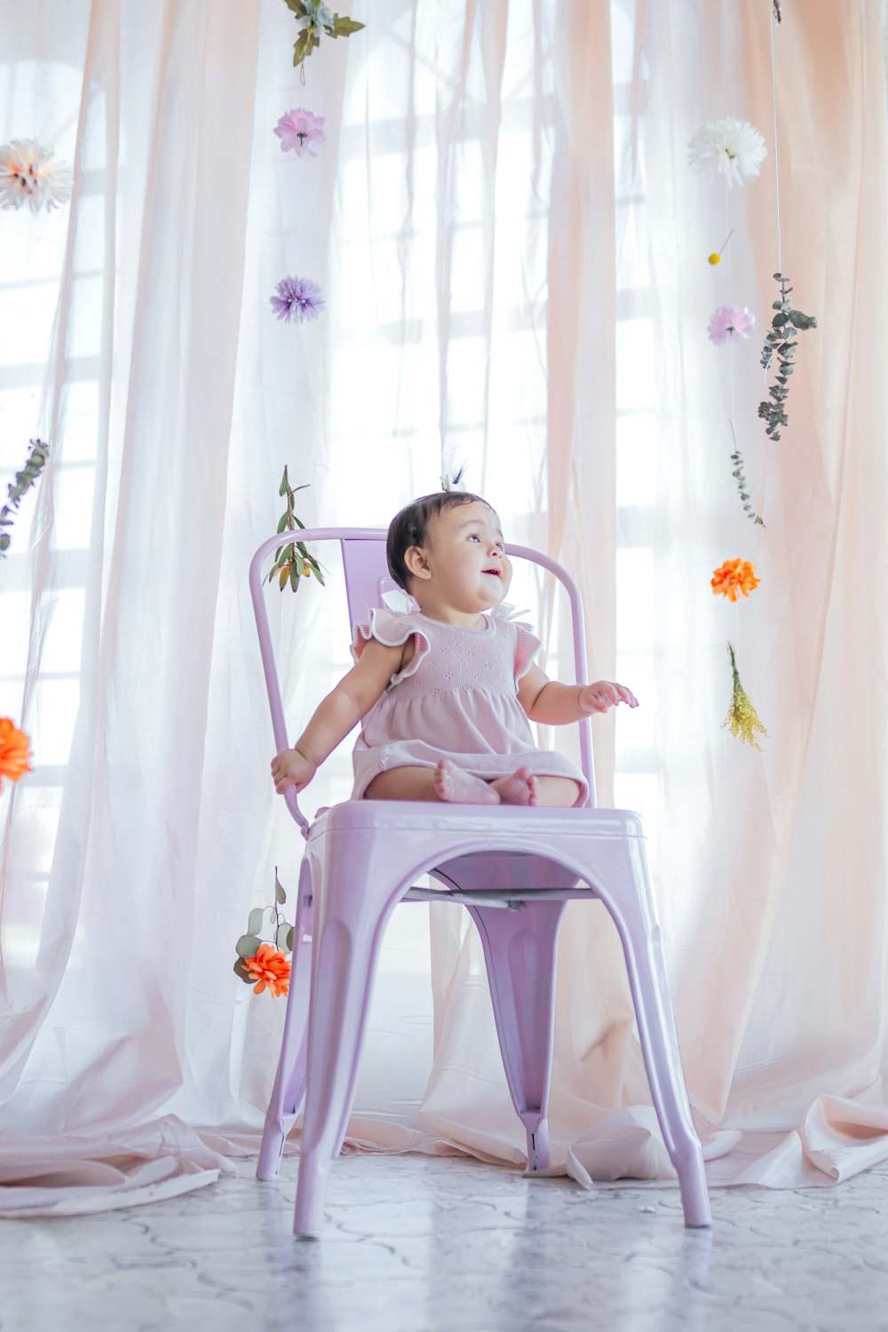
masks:
{"type": "Polygon", "coordinates": [[[638,701],[603,679],[550,681],[534,665],[539,639],[491,614],[511,565],[490,505],[462,490],[423,496],[391,521],[386,554],[419,610],[371,610],[358,626],[355,665],[272,761],[274,789],[306,787],[362,721],[353,799],[584,805],[580,769],[537,749],[527,719],[562,726],[638,701]]]}

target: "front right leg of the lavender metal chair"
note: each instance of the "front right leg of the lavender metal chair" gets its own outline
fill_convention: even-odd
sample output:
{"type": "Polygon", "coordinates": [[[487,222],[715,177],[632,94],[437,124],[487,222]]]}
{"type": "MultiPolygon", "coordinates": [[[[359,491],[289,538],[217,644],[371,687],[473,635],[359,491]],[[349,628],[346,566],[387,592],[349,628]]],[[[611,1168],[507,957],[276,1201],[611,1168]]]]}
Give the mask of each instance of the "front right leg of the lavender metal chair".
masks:
{"type": "MultiPolygon", "coordinates": [[[[608,906],[607,898],[604,904],[608,906]]],[[[632,898],[620,902],[616,910],[608,910],[623,943],[647,1080],[663,1142],[679,1177],[684,1224],[711,1225],[703,1148],[691,1119],[660,927],[650,899],[647,876],[643,886],[638,884],[638,892],[632,898]]]]}

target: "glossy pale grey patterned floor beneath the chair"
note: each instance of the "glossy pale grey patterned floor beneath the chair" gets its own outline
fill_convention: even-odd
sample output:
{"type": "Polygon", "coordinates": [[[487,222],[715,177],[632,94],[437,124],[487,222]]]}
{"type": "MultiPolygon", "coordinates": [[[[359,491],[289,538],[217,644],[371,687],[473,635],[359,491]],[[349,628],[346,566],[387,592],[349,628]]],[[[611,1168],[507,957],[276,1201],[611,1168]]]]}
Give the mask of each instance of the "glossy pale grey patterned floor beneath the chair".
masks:
{"type": "Polygon", "coordinates": [[[463,1159],[347,1156],[321,1240],[297,1160],[180,1197],[0,1221],[1,1332],[869,1332],[888,1328],[888,1166],[839,1188],[592,1193],[463,1159]]]}

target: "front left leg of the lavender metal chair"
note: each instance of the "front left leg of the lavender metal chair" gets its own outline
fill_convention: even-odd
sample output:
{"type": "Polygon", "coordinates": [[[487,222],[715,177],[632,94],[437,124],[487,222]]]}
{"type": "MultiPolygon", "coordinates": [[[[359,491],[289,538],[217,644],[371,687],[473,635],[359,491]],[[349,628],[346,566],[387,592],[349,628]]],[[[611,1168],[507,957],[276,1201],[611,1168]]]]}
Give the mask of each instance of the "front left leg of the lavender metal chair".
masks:
{"type": "Polygon", "coordinates": [[[330,884],[326,898],[312,975],[308,1092],[293,1221],[294,1235],[306,1237],[320,1232],[326,1179],[351,1111],[370,987],[389,914],[374,916],[354,882],[342,894],[330,884]]]}

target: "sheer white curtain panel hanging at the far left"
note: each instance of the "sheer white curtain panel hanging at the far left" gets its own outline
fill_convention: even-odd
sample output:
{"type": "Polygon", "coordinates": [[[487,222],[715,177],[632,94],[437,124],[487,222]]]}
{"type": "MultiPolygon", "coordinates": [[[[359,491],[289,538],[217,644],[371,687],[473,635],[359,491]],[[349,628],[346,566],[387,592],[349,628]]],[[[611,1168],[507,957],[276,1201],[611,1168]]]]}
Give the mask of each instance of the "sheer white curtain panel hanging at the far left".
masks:
{"type": "Polygon", "coordinates": [[[4,140],[75,164],[69,209],[0,214],[4,468],[52,442],[0,573],[36,767],[1,811],[8,1136],[140,1123],[182,1079],[258,32],[228,0],[51,9],[1,15],[4,140]]]}

